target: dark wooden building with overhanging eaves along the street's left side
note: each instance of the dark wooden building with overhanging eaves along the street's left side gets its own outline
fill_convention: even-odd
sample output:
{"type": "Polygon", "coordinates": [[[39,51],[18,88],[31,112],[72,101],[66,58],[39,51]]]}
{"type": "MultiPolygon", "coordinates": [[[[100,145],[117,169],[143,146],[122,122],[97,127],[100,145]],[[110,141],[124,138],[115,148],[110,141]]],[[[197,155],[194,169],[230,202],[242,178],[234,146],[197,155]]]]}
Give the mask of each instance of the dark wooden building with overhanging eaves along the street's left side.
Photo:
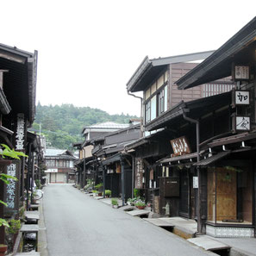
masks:
{"type": "MultiPolygon", "coordinates": [[[[0,205],[2,218],[17,217],[24,204],[24,189],[30,190],[25,178],[33,175],[32,164],[36,153],[31,152],[32,144],[37,147],[37,143],[27,131],[34,122],[36,74],[36,51],[28,53],[0,44],[0,142],[28,154],[28,159],[11,160],[8,165],[6,159],[0,160],[0,172],[18,178],[18,182],[8,187],[0,181],[0,199],[7,202],[7,207],[0,205]]],[[[0,230],[0,243],[4,243],[4,228],[0,230]]]]}

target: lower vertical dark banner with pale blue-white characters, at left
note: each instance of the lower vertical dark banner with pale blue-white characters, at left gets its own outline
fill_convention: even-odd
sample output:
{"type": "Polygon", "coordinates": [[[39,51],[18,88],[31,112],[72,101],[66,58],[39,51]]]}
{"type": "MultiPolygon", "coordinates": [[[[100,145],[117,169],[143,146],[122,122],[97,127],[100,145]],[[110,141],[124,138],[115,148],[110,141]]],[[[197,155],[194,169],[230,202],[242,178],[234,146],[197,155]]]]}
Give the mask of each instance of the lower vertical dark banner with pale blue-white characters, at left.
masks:
{"type": "MultiPolygon", "coordinates": [[[[19,160],[13,160],[10,165],[7,165],[6,174],[9,176],[20,178],[21,164],[19,160]]],[[[4,202],[7,206],[3,209],[3,215],[11,216],[19,210],[19,180],[15,181],[8,178],[9,184],[4,184],[4,202]]]]}

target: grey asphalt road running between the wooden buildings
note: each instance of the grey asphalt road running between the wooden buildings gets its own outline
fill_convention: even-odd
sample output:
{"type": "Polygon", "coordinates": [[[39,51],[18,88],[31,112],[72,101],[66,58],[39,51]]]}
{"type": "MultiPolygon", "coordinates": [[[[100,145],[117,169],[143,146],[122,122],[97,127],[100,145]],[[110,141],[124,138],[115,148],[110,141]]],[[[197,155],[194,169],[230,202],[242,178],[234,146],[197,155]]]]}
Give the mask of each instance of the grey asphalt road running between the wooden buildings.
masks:
{"type": "Polygon", "coordinates": [[[121,209],[113,209],[70,184],[48,185],[43,208],[50,256],[211,254],[121,209]]]}

